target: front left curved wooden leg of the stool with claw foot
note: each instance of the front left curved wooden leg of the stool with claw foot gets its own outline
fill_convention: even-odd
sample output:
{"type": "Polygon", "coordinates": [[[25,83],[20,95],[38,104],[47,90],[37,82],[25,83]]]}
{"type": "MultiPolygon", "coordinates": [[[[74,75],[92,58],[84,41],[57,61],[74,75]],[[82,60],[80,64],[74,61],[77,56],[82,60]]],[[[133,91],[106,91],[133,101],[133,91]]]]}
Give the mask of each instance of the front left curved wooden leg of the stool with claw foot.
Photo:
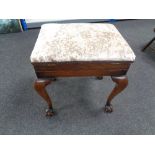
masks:
{"type": "Polygon", "coordinates": [[[51,83],[51,80],[36,80],[34,83],[34,88],[38,94],[48,103],[48,109],[46,110],[46,116],[53,116],[52,101],[46,91],[46,86],[51,83]]]}

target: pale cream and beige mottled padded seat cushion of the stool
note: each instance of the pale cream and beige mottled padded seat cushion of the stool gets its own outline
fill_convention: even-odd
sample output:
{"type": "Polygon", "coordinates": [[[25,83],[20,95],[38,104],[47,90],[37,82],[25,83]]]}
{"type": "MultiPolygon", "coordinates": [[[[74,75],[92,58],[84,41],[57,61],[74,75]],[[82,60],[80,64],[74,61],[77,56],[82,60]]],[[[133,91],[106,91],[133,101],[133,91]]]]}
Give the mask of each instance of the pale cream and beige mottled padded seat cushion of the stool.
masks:
{"type": "Polygon", "coordinates": [[[134,61],[135,55],[112,24],[44,24],[31,62],[134,61]]]}

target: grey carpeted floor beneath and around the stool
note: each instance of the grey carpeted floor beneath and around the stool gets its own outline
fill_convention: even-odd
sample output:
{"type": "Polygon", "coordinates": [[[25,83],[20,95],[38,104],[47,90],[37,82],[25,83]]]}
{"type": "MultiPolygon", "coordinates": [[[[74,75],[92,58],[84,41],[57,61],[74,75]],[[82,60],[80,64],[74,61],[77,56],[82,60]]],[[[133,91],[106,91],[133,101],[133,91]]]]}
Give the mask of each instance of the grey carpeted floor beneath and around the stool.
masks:
{"type": "Polygon", "coordinates": [[[112,114],[103,112],[114,86],[109,77],[60,78],[47,88],[57,115],[46,118],[29,60],[39,30],[0,35],[0,134],[155,134],[155,52],[141,52],[155,35],[155,20],[115,25],[137,58],[112,114]]]}

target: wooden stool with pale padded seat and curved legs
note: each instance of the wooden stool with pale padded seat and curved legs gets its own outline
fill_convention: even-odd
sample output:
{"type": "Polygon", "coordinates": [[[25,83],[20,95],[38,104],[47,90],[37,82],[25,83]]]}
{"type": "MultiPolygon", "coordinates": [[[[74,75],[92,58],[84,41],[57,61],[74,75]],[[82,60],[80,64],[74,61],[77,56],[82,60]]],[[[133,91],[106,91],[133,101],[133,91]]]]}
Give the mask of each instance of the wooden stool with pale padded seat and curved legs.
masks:
{"type": "Polygon", "coordinates": [[[112,24],[44,24],[30,59],[37,75],[34,88],[48,103],[46,115],[53,116],[45,88],[57,77],[111,76],[116,86],[104,111],[112,112],[111,100],[128,85],[135,55],[112,24]]]}

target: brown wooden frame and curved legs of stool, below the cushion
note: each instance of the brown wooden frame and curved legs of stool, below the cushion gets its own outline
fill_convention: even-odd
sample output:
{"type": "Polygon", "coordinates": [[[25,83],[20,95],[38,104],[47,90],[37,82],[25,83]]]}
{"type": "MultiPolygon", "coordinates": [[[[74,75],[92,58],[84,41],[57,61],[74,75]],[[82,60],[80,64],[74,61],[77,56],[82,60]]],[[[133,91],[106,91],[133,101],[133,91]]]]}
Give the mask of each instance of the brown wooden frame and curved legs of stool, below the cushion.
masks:
{"type": "Polygon", "coordinates": [[[32,63],[37,76],[37,80],[34,82],[34,88],[48,103],[46,116],[53,116],[52,101],[45,88],[57,77],[96,76],[98,79],[101,79],[103,76],[111,76],[116,85],[110,93],[104,107],[104,111],[110,113],[113,111],[111,100],[128,85],[126,73],[131,63],[131,61],[32,63]]]}

